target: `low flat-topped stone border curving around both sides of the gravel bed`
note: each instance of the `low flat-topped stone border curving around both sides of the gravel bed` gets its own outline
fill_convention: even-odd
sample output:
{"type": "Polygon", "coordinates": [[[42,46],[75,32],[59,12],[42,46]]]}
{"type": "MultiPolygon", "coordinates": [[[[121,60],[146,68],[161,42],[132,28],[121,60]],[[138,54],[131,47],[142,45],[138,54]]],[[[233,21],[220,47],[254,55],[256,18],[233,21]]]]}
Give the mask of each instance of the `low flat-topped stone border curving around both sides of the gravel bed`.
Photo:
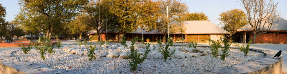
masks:
{"type": "MultiPolygon", "coordinates": [[[[199,46],[199,47],[209,47],[209,46],[199,46]]],[[[237,47],[231,47],[238,49],[237,47]]],[[[19,49],[10,49],[0,52],[0,73],[1,74],[82,74],[68,70],[57,70],[42,67],[34,63],[28,63],[19,61],[17,58],[12,56],[14,51],[19,49]]],[[[250,49],[250,51],[257,51],[263,53],[265,56],[262,59],[251,61],[249,63],[243,63],[239,65],[234,65],[232,67],[222,68],[222,69],[212,69],[208,71],[198,71],[189,74],[238,74],[238,73],[248,73],[248,74],[282,74],[282,59],[272,58],[275,54],[274,52],[261,49],[250,49]]]]}

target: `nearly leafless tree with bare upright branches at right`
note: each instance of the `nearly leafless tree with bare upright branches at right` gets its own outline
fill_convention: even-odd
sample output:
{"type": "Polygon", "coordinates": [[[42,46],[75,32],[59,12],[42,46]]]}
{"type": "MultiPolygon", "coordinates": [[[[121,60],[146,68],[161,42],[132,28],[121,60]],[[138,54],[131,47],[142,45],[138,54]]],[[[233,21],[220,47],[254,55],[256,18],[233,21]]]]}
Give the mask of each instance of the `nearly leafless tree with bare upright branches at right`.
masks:
{"type": "Polygon", "coordinates": [[[252,44],[254,44],[258,35],[268,32],[272,24],[279,21],[278,2],[274,3],[273,0],[268,3],[265,0],[241,0],[241,2],[246,10],[250,28],[253,30],[252,44]]]}

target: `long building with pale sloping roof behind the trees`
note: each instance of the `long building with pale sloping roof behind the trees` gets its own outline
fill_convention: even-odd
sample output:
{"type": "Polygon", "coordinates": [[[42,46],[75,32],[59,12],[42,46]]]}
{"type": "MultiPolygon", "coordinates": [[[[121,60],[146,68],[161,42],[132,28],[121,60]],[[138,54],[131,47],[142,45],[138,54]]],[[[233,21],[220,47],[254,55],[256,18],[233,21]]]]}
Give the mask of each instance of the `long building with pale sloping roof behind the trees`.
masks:
{"type": "MultiPolygon", "coordinates": [[[[171,24],[179,25],[177,22],[172,22],[171,24]]],[[[223,30],[222,28],[218,27],[217,25],[214,25],[208,20],[201,20],[201,21],[183,21],[182,23],[183,27],[183,42],[199,42],[199,43],[207,43],[208,39],[217,40],[220,38],[223,38],[224,35],[229,35],[229,32],[223,30]]],[[[103,40],[111,40],[114,42],[119,41],[119,32],[107,32],[107,35],[105,35],[106,32],[104,32],[101,35],[101,38],[103,40]]],[[[89,35],[89,37],[94,37],[96,34],[96,30],[91,30],[89,32],[86,32],[85,34],[89,35]]],[[[182,42],[181,40],[181,32],[174,32],[169,34],[171,38],[174,39],[174,42],[182,42]]],[[[161,32],[158,32],[157,30],[152,31],[145,31],[142,30],[140,27],[135,30],[134,32],[128,32],[125,34],[126,39],[130,40],[134,37],[138,38],[144,38],[150,39],[150,42],[156,42],[159,39],[163,39],[164,35],[161,32]],[[143,34],[143,35],[142,35],[143,34]]],[[[168,34],[166,34],[168,36],[168,34]]],[[[98,40],[98,37],[96,36],[93,40],[98,40]]]]}

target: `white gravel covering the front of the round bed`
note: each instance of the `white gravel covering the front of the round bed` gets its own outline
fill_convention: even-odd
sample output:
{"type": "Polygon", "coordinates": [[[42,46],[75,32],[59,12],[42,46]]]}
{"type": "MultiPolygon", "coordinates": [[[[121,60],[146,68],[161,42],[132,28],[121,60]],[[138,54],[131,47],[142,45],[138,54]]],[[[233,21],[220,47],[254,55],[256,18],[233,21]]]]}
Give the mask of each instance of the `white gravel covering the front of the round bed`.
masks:
{"type": "MultiPolygon", "coordinates": [[[[126,74],[126,73],[192,73],[196,71],[206,71],[210,69],[221,69],[235,64],[247,63],[262,58],[263,54],[249,51],[248,56],[238,49],[231,49],[230,56],[225,62],[220,57],[214,58],[211,54],[207,56],[189,57],[183,59],[170,59],[164,62],[163,59],[146,59],[144,63],[138,65],[135,72],[129,70],[128,59],[98,57],[96,60],[88,61],[88,56],[69,54],[61,49],[54,48],[55,54],[46,54],[42,60],[38,50],[32,49],[28,54],[22,50],[12,53],[20,61],[41,64],[42,66],[54,69],[73,70],[81,73],[99,74],[126,74]]],[[[222,54],[219,49],[219,54],[222,54]]]]}

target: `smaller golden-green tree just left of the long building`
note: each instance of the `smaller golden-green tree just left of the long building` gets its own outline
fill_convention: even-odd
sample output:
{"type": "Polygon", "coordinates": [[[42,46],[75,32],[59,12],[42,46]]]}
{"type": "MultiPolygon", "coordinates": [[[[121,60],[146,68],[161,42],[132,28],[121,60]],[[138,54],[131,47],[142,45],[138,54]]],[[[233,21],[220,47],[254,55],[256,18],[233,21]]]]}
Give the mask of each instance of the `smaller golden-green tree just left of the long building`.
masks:
{"type": "Polygon", "coordinates": [[[87,24],[88,16],[86,14],[78,15],[76,16],[76,19],[74,19],[71,23],[67,24],[66,26],[71,31],[71,34],[79,34],[80,41],[82,40],[82,35],[84,32],[87,32],[90,29],[90,27],[87,24]]]}

